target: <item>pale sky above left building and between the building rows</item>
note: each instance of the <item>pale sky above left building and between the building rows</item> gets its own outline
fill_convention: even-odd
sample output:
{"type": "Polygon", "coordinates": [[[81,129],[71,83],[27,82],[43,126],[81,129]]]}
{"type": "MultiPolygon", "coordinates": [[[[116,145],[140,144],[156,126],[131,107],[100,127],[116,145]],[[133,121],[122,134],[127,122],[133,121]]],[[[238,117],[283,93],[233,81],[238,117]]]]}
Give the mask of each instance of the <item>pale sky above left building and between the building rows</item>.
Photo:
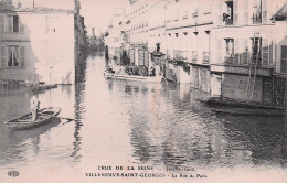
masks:
{"type": "MultiPolygon", "coordinates": [[[[32,7],[33,0],[13,0],[13,3],[19,1],[22,7],[32,7]]],[[[105,32],[111,20],[113,10],[124,8],[129,4],[128,0],[79,0],[81,15],[85,17],[85,25],[91,35],[92,28],[95,28],[95,33],[98,35],[105,32]]],[[[59,9],[73,9],[74,0],[34,0],[35,7],[47,7],[59,9]]]]}

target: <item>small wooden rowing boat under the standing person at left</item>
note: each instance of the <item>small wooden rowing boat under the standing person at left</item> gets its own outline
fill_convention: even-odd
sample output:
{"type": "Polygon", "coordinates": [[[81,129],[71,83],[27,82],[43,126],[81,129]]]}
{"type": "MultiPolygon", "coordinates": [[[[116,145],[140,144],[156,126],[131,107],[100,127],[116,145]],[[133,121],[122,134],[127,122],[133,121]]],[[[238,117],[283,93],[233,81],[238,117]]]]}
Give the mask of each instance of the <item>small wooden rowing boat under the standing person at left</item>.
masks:
{"type": "Polygon", "coordinates": [[[15,119],[6,121],[4,125],[11,130],[28,130],[41,126],[45,126],[57,119],[57,115],[61,112],[59,107],[49,107],[39,110],[38,119],[32,120],[31,112],[21,115],[15,119]]]}

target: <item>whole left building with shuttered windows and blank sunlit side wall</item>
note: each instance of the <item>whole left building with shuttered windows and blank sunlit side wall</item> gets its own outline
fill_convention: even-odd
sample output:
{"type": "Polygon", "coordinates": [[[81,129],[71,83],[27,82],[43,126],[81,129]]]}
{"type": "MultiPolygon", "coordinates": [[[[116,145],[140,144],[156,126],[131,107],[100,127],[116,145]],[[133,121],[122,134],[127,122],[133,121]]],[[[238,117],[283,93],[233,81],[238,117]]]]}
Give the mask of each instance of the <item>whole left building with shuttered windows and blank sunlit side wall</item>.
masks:
{"type": "Polygon", "coordinates": [[[79,2],[75,10],[14,7],[6,0],[0,4],[0,79],[76,83],[86,44],[79,2]]]}

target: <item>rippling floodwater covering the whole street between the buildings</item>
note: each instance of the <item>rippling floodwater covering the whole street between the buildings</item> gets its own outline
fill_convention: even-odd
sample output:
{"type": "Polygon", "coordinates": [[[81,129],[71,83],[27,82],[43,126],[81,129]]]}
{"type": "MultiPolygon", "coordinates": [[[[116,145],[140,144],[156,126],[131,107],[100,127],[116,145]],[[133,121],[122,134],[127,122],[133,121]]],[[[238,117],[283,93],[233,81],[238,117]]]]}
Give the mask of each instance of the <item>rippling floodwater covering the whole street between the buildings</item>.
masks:
{"type": "Polygon", "coordinates": [[[61,117],[75,119],[70,122],[11,131],[2,121],[28,111],[32,94],[2,90],[1,173],[95,172],[99,165],[286,170],[286,119],[213,114],[189,85],[107,80],[106,65],[91,56],[83,83],[40,94],[41,107],[61,107],[61,117]]]}

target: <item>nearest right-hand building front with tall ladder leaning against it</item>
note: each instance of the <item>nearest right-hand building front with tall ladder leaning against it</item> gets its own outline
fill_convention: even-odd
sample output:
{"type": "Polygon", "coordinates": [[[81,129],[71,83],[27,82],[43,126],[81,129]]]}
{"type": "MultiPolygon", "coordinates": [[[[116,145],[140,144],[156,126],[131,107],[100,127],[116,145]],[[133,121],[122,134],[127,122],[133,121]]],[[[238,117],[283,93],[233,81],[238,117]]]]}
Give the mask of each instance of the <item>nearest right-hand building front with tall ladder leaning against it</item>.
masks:
{"type": "Polygon", "coordinates": [[[278,52],[273,19],[278,6],[272,0],[215,1],[211,97],[232,103],[278,105],[274,100],[278,52]]]}

